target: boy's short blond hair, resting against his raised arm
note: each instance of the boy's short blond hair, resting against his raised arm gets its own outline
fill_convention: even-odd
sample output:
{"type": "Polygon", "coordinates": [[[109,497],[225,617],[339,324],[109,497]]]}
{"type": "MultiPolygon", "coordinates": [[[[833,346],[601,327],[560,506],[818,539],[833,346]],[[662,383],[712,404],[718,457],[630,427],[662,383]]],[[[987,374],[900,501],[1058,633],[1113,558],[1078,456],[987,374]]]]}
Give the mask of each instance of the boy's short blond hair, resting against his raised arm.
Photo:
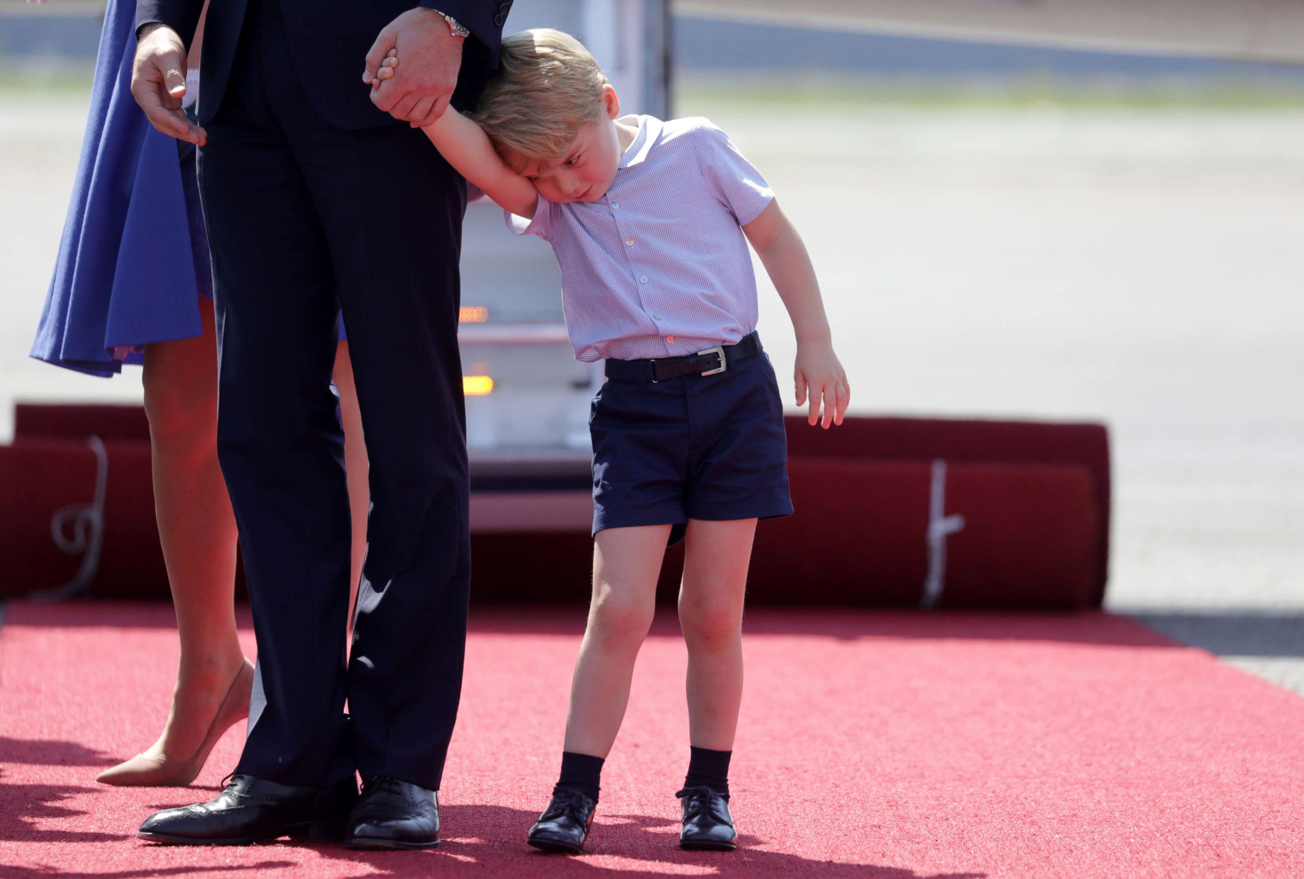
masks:
{"type": "Polygon", "coordinates": [[[475,115],[494,143],[557,159],[584,123],[606,119],[606,74],[570,34],[552,27],[511,34],[498,59],[475,115]]]}

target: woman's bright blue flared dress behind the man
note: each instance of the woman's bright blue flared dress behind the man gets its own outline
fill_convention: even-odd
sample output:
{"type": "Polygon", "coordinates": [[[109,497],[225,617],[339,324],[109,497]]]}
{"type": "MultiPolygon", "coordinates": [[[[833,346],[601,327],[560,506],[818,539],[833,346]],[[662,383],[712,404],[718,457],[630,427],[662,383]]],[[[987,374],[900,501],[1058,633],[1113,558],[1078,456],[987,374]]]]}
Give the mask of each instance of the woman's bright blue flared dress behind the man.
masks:
{"type": "MultiPolygon", "coordinates": [[[[196,155],[132,98],[136,0],[108,0],[73,197],[31,356],[115,376],[203,333],[213,297],[196,155]]],[[[196,83],[192,81],[192,87],[196,83]]],[[[339,327],[343,339],[343,326],[339,327]]]]}

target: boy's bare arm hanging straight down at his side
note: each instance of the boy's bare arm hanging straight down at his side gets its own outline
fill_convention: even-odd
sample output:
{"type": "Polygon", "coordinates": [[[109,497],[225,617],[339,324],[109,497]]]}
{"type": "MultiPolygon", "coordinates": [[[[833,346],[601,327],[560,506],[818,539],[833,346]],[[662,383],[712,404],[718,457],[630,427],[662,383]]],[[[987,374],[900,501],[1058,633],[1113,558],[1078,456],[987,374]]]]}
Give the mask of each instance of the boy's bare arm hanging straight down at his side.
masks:
{"type": "Polygon", "coordinates": [[[793,381],[797,406],[807,403],[807,421],[820,421],[820,398],[824,400],[823,426],[841,424],[852,402],[852,385],[846,372],[833,353],[833,336],[824,316],[824,301],[815,279],[815,266],[797,228],[792,224],[778,201],[771,201],[752,222],[742,227],[747,240],[756,249],[780,299],[788,308],[797,333],[797,364],[793,381]]]}

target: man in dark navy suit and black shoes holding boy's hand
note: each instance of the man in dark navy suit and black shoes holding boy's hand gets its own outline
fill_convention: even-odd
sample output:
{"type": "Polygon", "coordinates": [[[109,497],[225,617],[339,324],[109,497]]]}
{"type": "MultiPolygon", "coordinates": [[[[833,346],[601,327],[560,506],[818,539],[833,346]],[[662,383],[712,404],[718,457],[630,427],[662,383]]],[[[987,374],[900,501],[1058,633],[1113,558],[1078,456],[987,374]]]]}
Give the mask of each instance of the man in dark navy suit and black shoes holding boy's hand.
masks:
{"type": "Polygon", "coordinates": [[[214,3],[198,124],[181,98],[203,0],[137,7],[132,94],[155,128],[200,146],[218,454],[258,639],[249,734],[231,784],[209,803],[153,815],[145,837],[438,844],[436,790],[460,696],[469,588],[456,340],[466,183],[430,160],[412,127],[450,104],[471,107],[497,64],[510,7],[214,3]],[[378,68],[391,48],[404,55],[403,73],[381,89],[359,82],[359,63],[378,68]],[[398,223],[381,230],[379,214],[398,223]],[[349,507],[330,383],[338,310],[373,505],[347,668],[349,507]]]}

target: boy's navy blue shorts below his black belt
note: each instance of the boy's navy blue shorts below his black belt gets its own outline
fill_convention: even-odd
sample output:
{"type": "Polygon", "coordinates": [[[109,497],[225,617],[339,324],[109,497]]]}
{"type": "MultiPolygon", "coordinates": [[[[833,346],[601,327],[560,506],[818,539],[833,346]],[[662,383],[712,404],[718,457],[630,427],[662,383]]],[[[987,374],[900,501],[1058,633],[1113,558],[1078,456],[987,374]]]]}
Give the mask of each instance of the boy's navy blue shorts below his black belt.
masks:
{"type": "Polygon", "coordinates": [[[715,376],[608,378],[593,398],[593,533],[790,515],[784,404],[760,352],[715,376]]]}

